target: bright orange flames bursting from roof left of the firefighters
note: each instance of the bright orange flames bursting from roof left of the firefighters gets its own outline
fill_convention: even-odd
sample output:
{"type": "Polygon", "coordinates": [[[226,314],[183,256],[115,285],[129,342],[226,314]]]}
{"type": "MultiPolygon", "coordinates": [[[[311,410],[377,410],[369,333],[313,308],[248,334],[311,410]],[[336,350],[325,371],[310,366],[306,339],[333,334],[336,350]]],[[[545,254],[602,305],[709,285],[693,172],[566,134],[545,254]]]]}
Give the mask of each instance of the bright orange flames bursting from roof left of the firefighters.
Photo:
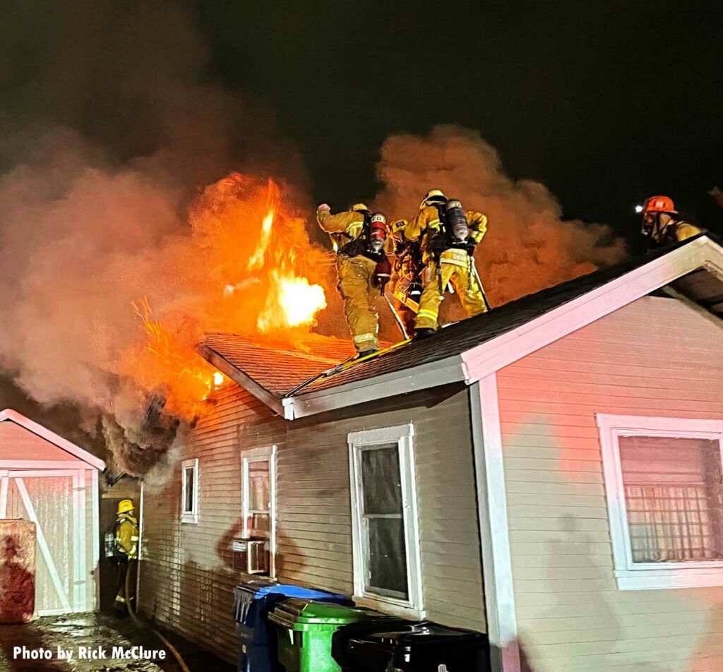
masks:
{"type": "Polygon", "coordinates": [[[226,381],[195,350],[204,332],[295,340],[327,305],[314,280],[330,283],[333,259],[310,243],[307,223],[273,180],[232,173],[200,194],[189,223],[190,239],[166,250],[173,272],[152,278],[163,291],[160,303],[152,297],[160,317],[145,298],[132,304],[145,341],[123,353],[119,369],[145,392],[163,391],[166,410],[190,419],[226,381]]]}

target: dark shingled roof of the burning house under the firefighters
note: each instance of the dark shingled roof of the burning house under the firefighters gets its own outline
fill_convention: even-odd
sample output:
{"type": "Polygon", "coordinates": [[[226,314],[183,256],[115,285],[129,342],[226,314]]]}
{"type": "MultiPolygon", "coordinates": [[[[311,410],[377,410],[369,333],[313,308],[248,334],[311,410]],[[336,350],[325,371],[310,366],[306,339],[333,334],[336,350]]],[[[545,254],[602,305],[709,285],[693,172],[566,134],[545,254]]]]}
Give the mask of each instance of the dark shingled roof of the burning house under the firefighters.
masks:
{"type": "MultiPolygon", "coordinates": [[[[706,257],[707,252],[706,254],[699,252],[701,249],[710,251],[711,247],[714,248],[714,257],[722,257],[723,250],[719,244],[711,236],[701,234],[701,236],[690,238],[675,246],[629,259],[589,275],[583,275],[575,280],[524,296],[517,301],[510,301],[489,313],[450,324],[425,340],[410,343],[379,358],[351,366],[333,376],[320,378],[294,395],[289,393],[301,382],[329,369],[335,363],[343,361],[349,353],[353,352],[351,343],[338,339],[315,337],[315,340],[302,343],[301,351],[289,349],[288,346],[277,350],[271,343],[259,344],[252,342],[248,337],[213,334],[206,337],[203,348],[213,351],[226,365],[231,365],[232,369],[244,374],[240,376],[240,379],[239,376],[236,378],[231,376],[231,378],[237,379],[236,382],[243,387],[247,387],[247,385],[244,385],[241,379],[248,382],[246,379],[250,378],[252,382],[260,384],[273,397],[272,408],[275,410],[278,410],[279,405],[287,407],[291,404],[297,407],[307,405],[307,400],[311,403],[312,397],[328,396],[335,389],[359,388],[366,382],[377,379],[379,381],[392,380],[410,371],[437,369],[439,371],[437,384],[443,384],[450,382],[450,376],[451,379],[467,379],[468,372],[463,370],[463,376],[455,377],[449,367],[465,369],[463,365],[472,350],[479,350],[485,344],[496,344],[505,335],[517,335],[520,330],[526,328],[526,325],[536,323],[546,315],[565,311],[565,306],[577,306],[586,296],[595,298],[597,290],[613,285],[623,285],[633,277],[647,277],[648,270],[654,270],[661,267],[662,264],[669,268],[667,275],[660,276],[662,280],[657,282],[658,276],[653,274],[654,277],[651,277],[647,284],[643,282],[641,285],[643,294],[673,283],[672,286],[683,296],[696,301],[715,314],[722,314],[723,285],[716,275],[711,277],[711,264],[706,257]],[[705,257],[706,263],[698,261],[701,254],[705,257]],[[442,370],[440,363],[446,363],[449,366],[442,370]]],[[[723,268],[719,268],[719,270],[723,275],[723,268]]],[[[638,297],[635,296],[629,300],[633,301],[634,298],[638,297]]],[[[582,325],[578,325],[576,328],[579,326],[582,325]]],[[[540,343],[538,347],[542,347],[542,345],[544,343],[540,343]]],[[[520,356],[526,354],[522,350],[520,352],[520,356]]],[[[211,361],[210,358],[209,361],[211,361]]],[[[218,361],[212,361],[212,363],[218,366],[218,361]]],[[[469,369],[469,366],[466,368],[469,369]]],[[[222,370],[230,375],[228,366],[227,369],[222,370]]],[[[429,384],[433,382],[432,376],[429,384]]],[[[424,387],[429,387],[429,384],[425,382],[424,387]]],[[[413,382],[411,382],[411,386],[414,389],[413,382]]],[[[247,387],[247,389],[249,388],[247,387]]],[[[389,388],[390,392],[392,389],[389,388]]],[[[253,393],[254,390],[249,389],[249,392],[253,393]]],[[[267,398],[265,401],[270,400],[267,398]]],[[[286,416],[288,417],[288,415],[287,412],[286,416]]]]}

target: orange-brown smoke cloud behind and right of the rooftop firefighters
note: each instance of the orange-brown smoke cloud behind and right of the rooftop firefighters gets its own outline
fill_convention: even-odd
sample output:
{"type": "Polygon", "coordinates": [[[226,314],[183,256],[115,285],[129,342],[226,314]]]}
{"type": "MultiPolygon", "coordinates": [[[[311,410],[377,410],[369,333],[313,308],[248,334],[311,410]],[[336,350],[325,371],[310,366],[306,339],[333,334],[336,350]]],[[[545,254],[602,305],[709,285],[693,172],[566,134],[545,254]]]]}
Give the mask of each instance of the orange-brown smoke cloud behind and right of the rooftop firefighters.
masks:
{"type": "Polygon", "coordinates": [[[469,129],[437,126],[427,137],[391,136],[377,173],[384,188],[375,205],[393,217],[413,216],[430,189],[487,215],[487,236],[475,254],[492,306],[625,257],[625,244],[609,227],[563,220],[544,185],[510,178],[495,148],[469,129]]]}

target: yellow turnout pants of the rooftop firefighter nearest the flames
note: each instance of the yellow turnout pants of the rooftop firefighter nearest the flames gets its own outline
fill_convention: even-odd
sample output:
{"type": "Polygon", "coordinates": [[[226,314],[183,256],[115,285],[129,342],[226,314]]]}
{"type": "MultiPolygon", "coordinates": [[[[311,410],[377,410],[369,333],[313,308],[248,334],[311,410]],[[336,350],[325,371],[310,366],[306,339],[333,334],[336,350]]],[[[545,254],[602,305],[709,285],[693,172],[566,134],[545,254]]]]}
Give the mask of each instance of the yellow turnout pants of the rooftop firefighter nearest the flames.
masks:
{"type": "Polygon", "coordinates": [[[338,257],[339,292],[344,300],[344,315],[357,352],[377,349],[379,313],[375,308],[380,292],[372,284],[377,262],[361,254],[338,257]]]}

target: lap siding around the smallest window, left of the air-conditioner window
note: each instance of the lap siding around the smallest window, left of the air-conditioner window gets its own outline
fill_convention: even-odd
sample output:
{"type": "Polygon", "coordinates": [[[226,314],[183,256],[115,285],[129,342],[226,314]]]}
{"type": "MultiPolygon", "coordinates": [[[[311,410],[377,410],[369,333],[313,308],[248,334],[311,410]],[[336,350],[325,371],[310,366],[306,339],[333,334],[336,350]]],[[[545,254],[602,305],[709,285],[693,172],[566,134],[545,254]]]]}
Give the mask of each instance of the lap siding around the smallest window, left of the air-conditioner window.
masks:
{"type": "MultiPolygon", "coordinates": [[[[140,606],[158,621],[228,660],[236,656],[231,539],[241,536],[241,463],[248,423],[270,413],[237,388],[218,400],[177,449],[165,485],[145,484],[140,606]],[[200,522],[181,523],[181,460],[199,460],[200,522]]],[[[273,422],[273,420],[272,420],[273,422]]],[[[278,421],[276,421],[278,422],[278,421]]],[[[268,443],[268,441],[267,441],[268,443]]]]}

